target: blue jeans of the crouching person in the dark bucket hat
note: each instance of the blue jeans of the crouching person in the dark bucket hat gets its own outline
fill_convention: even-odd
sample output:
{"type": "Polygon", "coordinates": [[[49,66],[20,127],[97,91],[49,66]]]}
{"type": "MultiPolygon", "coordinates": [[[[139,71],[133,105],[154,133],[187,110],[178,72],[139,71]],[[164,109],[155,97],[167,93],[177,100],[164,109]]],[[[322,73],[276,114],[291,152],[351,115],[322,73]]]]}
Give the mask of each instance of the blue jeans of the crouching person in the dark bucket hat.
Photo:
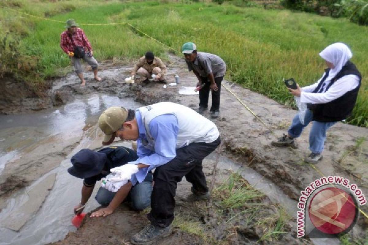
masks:
{"type": "MultiPolygon", "coordinates": [[[[143,210],[151,205],[152,188],[151,181],[143,181],[133,186],[127,197],[131,208],[134,210],[143,210]]],[[[116,192],[111,192],[100,187],[95,199],[100,205],[107,206],[115,197],[115,194],[116,192]]]]}

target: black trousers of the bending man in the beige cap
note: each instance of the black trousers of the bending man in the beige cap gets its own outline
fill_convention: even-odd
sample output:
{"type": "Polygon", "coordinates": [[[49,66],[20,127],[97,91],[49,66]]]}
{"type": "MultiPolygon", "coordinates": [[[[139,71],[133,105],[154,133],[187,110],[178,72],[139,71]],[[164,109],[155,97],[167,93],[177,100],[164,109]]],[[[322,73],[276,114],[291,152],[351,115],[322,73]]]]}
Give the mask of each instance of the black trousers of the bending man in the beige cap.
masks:
{"type": "Polygon", "coordinates": [[[153,173],[155,185],[151,195],[148,219],[154,226],[167,227],[174,219],[177,183],[185,176],[195,190],[207,192],[202,161],[220,144],[220,137],[212,143],[191,143],[176,150],[176,157],[159,166],[153,173]]]}

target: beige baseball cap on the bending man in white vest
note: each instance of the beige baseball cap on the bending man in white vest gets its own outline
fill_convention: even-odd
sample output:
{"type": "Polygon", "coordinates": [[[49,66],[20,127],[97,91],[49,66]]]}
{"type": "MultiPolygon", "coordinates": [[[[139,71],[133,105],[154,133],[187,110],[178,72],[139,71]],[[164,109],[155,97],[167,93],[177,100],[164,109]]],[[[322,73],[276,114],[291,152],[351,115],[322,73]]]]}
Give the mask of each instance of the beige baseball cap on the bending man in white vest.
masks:
{"type": "Polygon", "coordinates": [[[98,126],[105,134],[102,141],[103,145],[113,143],[116,137],[115,132],[120,129],[127,117],[128,110],[124,107],[109,107],[102,112],[98,119],[98,126]]]}

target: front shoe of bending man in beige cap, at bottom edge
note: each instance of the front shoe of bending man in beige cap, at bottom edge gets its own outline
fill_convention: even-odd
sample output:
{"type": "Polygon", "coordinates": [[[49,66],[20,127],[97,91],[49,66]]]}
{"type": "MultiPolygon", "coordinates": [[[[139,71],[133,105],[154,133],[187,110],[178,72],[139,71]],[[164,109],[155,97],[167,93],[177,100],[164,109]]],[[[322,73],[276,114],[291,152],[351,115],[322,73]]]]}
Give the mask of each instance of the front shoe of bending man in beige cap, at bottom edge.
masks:
{"type": "Polygon", "coordinates": [[[173,232],[172,226],[159,227],[152,224],[147,225],[143,230],[131,237],[133,244],[152,244],[158,239],[168,237],[173,232]]]}

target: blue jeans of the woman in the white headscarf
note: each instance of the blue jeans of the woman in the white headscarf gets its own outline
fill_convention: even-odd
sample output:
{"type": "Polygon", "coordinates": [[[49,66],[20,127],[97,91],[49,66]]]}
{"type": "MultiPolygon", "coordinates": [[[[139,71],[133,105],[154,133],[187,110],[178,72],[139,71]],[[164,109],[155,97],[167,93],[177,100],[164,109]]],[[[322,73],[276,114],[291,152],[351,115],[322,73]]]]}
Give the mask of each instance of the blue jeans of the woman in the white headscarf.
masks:
{"type": "MultiPolygon", "coordinates": [[[[301,124],[299,115],[295,115],[289,130],[287,130],[287,133],[293,138],[299,137],[303,129],[308,126],[312,119],[313,113],[309,109],[305,114],[305,125],[301,124]]],[[[313,153],[320,154],[323,151],[323,145],[325,144],[326,140],[326,131],[335,123],[336,122],[313,122],[311,132],[309,133],[309,149],[313,153]]]]}

